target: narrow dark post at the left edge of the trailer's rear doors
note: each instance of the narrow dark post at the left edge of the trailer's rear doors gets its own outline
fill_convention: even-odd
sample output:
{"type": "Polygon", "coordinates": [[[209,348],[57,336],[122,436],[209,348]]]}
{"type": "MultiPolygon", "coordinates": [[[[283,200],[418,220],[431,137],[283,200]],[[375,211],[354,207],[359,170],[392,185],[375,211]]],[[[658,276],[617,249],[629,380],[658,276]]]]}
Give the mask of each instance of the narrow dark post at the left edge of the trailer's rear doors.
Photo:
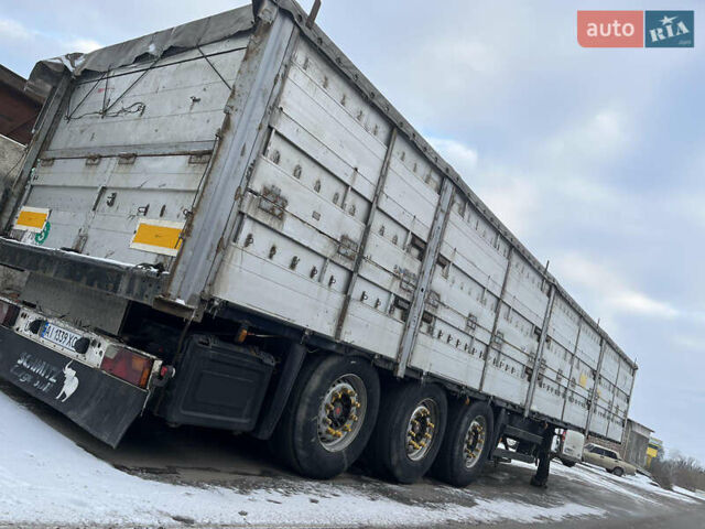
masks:
{"type": "Polygon", "coordinates": [[[21,199],[24,196],[24,191],[30,181],[30,175],[32,174],[36,160],[52,141],[54,130],[61,119],[61,114],[64,109],[64,105],[66,104],[67,96],[70,94],[69,86],[70,74],[66,72],[58,82],[58,85],[53,89],[48,100],[44,104],[41,112],[42,123],[30,142],[26,158],[24,159],[24,163],[22,164],[22,170],[20,171],[18,179],[13,184],[10,184],[8,192],[3,193],[4,204],[0,203],[0,226],[3,227],[3,233],[8,233],[12,228],[12,222],[19,213],[21,199]]]}

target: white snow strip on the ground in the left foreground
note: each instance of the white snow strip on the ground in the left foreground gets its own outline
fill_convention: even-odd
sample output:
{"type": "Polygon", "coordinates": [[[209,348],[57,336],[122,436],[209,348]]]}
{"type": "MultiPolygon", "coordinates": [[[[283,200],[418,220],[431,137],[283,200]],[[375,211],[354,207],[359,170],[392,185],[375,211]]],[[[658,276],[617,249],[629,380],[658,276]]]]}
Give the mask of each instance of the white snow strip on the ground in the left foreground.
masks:
{"type": "Polygon", "coordinates": [[[474,506],[408,505],[371,497],[350,486],[281,481],[281,488],[243,494],[226,487],[193,487],[122,473],[78,447],[0,392],[0,525],[198,525],[297,523],[329,526],[430,526],[463,522],[556,521],[604,516],[572,503],[536,506],[475,498],[474,506]],[[292,493],[292,489],[295,490],[292,493]]]}

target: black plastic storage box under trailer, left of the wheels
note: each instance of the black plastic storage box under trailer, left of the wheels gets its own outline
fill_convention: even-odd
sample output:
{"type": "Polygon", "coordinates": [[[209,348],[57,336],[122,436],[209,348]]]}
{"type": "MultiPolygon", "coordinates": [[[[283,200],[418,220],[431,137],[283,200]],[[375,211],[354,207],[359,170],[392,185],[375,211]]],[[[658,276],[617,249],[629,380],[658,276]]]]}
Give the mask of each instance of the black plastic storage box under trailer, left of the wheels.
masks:
{"type": "Polygon", "coordinates": [[[274,358],[212,336],[191,336],[158,414],[176,424],[254,429],[274,358]]]}

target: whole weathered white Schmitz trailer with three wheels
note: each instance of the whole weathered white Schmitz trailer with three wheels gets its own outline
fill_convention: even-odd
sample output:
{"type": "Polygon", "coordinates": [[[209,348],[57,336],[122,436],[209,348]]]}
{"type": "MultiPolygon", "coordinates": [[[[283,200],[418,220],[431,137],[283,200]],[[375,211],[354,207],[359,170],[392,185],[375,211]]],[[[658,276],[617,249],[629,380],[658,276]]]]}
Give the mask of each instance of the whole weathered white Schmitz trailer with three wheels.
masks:
{"type": "Polygon", "coordinates": [[[30,86],[51,97],[3,194],[0,263],[25,281],[3,285],[0,369],[104,441],[151,410],[274,431],[308,475],[367,444],[413,481],[440,451],[462,484],[440,444],[463,421],[466,460],[533,461],[555,428],[621,440],[636,364],[295,2],[44,61],[30,86]],[[314,391],[312,464],[297,407],[329,358],[348,368],[314,391]],[[72,377],[93,396],[58,395],[72,377]],[[380,399],[378,422],[406,410],[409,468],[380,399]]]}

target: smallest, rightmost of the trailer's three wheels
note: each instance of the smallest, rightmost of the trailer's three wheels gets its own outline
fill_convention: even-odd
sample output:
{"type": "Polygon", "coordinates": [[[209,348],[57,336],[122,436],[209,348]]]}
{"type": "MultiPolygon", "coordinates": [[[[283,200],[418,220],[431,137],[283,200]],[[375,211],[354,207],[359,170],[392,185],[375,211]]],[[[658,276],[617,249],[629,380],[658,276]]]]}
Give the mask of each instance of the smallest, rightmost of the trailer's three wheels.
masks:
{"type": "Polygon", "coordinates": [[[465,487],[482,472],[491,450],[495,418],[486,402],[453,403],[441,452],[433,465],[433,474],[442,482],[465,487]]]}

